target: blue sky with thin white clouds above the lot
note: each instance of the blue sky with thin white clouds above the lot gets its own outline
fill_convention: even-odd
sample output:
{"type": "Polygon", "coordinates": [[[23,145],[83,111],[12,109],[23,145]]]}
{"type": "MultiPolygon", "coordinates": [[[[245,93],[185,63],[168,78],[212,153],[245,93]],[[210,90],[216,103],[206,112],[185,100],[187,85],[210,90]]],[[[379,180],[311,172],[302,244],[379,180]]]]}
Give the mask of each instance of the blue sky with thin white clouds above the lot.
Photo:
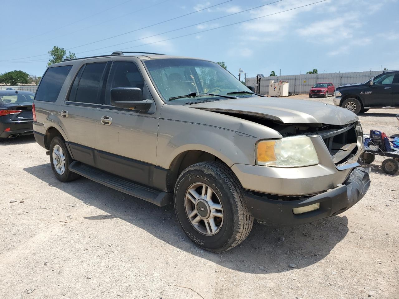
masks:
{"type": "Polygon", "coordinates": [[[17,4],[6,0],[1,5],[3,38],[0,61],[23,59],[0,62],[0,73],[21,69],[31,75],[42,75],[48,60],[48,55],[43,54],[53,45],[67,51],[70,49],[77,57],[131,48],[131,51],[225,61],[231,73],[236,75],[241,68],[247,77],[258,73],[269,75],[272,70],[279,74],[280,69],[281,75],[304,73],[314,68],[319,73],[379,70],[381,66],[399,69],[398,0],[328,0],[250,22],[199,32],[317,1],[282,0],[249,12],[148,37],[276,0],[231,0],[196,12],[225,1],[40,0],[18,1],[17,4]],[[196,13],[137,30],[190,12],[196,13]],[[92,43],[133,30],[137,31],[92,43]],[[191,33],[194,34],[162,41],[191,33]],[[125,43],[135,39],[141,40],[125,43]],[[87,43],[92,44],[81,46],[87,43]],[[125,44],[112,46],[119,43],[125,44]],[[152,44],[140,46],[144,43],[152,44]],[[103,47],[107,48],[92,51],[103,47]],[[42,56],[31,57],[36,55],[42,56]]]}

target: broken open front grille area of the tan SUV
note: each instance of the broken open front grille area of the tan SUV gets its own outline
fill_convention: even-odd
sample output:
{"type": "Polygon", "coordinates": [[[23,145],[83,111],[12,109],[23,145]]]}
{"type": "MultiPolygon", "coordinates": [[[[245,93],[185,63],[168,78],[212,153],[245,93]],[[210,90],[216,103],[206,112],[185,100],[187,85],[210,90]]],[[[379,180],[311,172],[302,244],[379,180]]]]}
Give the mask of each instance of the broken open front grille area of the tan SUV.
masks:
{"type": "Polygon", "coordinates": [[[362,133],[358,132],[358,130],[361,131],[361,129],[358,129],[360,125],[357,125],[358,123],[355,122],[338,129],[318,132],[335,164],[344,163],[356,155],[358,151],[358,138],[362,136],[362,133]]]}

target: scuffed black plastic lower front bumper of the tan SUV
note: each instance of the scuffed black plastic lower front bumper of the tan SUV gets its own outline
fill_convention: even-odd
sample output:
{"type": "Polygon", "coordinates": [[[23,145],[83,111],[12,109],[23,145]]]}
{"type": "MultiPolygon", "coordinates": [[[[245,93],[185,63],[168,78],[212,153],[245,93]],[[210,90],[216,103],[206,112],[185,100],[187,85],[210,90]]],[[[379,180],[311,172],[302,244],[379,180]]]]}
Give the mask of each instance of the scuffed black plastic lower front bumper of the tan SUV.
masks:
{"type": "MultiPolygon", "coordinates": [[[[262,224],[297,225],[338,215],[356,204],[370,187],[370,168],[356,167],[338,187],[312,197],[292,201],[268,199],[250,191],[245,192],[247,206],[262,224]],[[292,209],[320,203],[320,208],[303,214],[292,209]]],[[[284,197],[281,197],[284,198],[284,197]]]]}

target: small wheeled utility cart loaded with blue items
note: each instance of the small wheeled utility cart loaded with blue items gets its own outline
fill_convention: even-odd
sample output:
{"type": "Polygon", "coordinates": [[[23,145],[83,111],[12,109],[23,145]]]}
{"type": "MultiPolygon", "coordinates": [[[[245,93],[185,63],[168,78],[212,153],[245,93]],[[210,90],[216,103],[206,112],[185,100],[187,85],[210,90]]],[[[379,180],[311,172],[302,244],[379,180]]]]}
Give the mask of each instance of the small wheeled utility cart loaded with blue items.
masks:
{"type": "Polygon", "coordinates": [[[371,130],[370,135],[363,135],[365,151],[364,163],[373,163],[375,155],[387,157],[382,164],[382,170],[390,175],[399,171],[399,137],[386,136],[383,132],[371,130]]]}

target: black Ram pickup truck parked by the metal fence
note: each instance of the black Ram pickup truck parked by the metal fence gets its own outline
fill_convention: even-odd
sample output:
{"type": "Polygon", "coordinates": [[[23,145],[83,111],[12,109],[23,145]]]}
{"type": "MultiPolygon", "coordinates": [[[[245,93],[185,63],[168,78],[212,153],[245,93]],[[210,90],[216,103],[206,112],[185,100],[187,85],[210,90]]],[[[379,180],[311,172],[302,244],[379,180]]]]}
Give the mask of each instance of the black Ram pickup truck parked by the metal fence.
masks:
{"type": "Polygon", "coordinates": [[[362,84],[338,87],[334,104],[356,114],[369,109],[399,108],[399,71],[384,72],[362,84]]]}

